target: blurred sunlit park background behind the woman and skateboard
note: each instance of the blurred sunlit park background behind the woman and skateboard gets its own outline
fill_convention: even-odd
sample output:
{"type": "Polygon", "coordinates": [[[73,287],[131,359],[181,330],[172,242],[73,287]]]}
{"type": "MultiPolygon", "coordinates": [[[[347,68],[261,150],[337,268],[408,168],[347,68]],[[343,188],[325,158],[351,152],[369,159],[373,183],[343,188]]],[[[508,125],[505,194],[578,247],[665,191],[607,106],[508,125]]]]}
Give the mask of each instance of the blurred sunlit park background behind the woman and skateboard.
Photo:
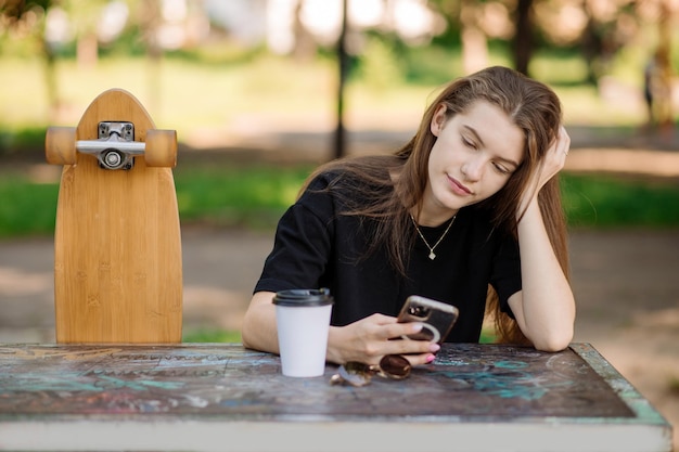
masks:
{"type": "MultiPolygon", "coordinates": [[[[679,0],[0,0],[0,244],[16,253],[0,260],[18,262],[28,245],[51,240],[61,168],[44,162],[46,128],[75,127],[106,89],[130,91],[158,128],[177,130],[187,242],[235,237],[230,251],[245,248],[241,264],[256,260],[256,277],[279,217],[316,165],[395,151],[443,83],[495,64],[562,99],[574,148],[561,177],[574,283],[580,294],[602,282],[637,290],[578,308],[582,324],[617,319],[626,300],[635,315],[648,308],[664,322],[633,330],[638,317],[617,319],[617,344],[603,326],[587,337],[678,423],[677,269],[651,266],[679,251],[679,0]],[[254,244],[252,234],[267,238],[254,244]],[[610,245],[612,261],[632,273],[615,268],[607,279],[592,263],[603,259],[591,254],[603,237],[622,241],[610,245]],[[663,344],[643,348],[659,333],[663,344]],[[658,367],[639,369],[649,357],[658,367]]],[[[194,270],[218,272],[207,262],[227,249],[201,249],[205,266],[194,270]]],[[[0,264],[0,300],[18,281],[37,280],[0,264]]],[[[209,294],[189,290],[187,307],[225,309],[223,294],[204,301],[209,294]]],[[[209,317],[197,318],[210,325],[209,317]]],[[[228,322],[184,337],[239,339],[228,322]]]]}

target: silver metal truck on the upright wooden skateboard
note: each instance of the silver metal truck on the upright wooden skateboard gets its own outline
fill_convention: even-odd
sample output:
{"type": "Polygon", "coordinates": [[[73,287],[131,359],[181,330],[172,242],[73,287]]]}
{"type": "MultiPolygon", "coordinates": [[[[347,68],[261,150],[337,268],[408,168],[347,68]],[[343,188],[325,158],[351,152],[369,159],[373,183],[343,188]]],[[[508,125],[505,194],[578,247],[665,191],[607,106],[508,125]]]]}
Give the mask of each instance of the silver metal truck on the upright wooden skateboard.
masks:
{"type": "Polygon", "coordinates": [[[95,155],[105,169],[131,169],[134,156],[143,155],[145,143],[134,141],[132,122],[99,122],[99,140],[78,140],[76,148],[95,155]]]}

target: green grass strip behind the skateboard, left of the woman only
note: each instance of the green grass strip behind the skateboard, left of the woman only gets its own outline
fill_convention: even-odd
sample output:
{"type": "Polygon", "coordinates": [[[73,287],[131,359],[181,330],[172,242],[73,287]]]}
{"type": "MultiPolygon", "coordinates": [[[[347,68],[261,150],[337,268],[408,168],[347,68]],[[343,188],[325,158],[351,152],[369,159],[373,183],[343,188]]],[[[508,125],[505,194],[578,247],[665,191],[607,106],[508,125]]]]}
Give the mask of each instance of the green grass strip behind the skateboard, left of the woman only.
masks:
{"type": "MultiPolygon", "coordinates": [[[[272,229],[310,172],[291,167],[190,167],[175,171],[182,224],[272,229]]],[[[57,181],[30,173],[0,176],[0,237],[54,232],[57,181]]]]}

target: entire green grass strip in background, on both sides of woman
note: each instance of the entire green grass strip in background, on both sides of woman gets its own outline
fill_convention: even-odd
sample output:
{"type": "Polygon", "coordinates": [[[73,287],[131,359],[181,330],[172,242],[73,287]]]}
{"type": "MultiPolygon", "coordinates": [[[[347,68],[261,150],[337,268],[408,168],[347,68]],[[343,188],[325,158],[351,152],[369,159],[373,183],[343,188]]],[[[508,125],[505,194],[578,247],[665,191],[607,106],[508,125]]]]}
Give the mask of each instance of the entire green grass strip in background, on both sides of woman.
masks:
{"type": "MultiPolygon", "coordinates": [[[[272,230],[292,204],[307,166],[191,166],[175,171],[181,222],[272,230]]],[[[658,181],[565,173],[563,203],[572,229],[679,228],[679,186],[658,181]]],[[[0,177],[0,237],[54,231],[59,185],[29,173],[0,177]]]]}

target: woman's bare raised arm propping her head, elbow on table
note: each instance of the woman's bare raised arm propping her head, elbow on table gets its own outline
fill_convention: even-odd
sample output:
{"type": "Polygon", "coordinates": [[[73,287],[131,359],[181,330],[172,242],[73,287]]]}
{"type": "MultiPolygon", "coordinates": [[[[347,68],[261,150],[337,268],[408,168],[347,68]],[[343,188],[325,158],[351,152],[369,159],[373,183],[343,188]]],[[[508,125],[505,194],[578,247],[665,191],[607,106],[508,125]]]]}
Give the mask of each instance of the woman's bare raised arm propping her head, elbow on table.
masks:
{"type": "Polygon", "coordinates": [[[521,331],[535,348],[546,351],[563,350],[573,340],[575,298],[545,228],[537,193],[563,168],[569,146],[562,127],[536,175],[538,190],[529,190],[522,199],[517,232],[523,288],[509,298],[521,331]]]}

